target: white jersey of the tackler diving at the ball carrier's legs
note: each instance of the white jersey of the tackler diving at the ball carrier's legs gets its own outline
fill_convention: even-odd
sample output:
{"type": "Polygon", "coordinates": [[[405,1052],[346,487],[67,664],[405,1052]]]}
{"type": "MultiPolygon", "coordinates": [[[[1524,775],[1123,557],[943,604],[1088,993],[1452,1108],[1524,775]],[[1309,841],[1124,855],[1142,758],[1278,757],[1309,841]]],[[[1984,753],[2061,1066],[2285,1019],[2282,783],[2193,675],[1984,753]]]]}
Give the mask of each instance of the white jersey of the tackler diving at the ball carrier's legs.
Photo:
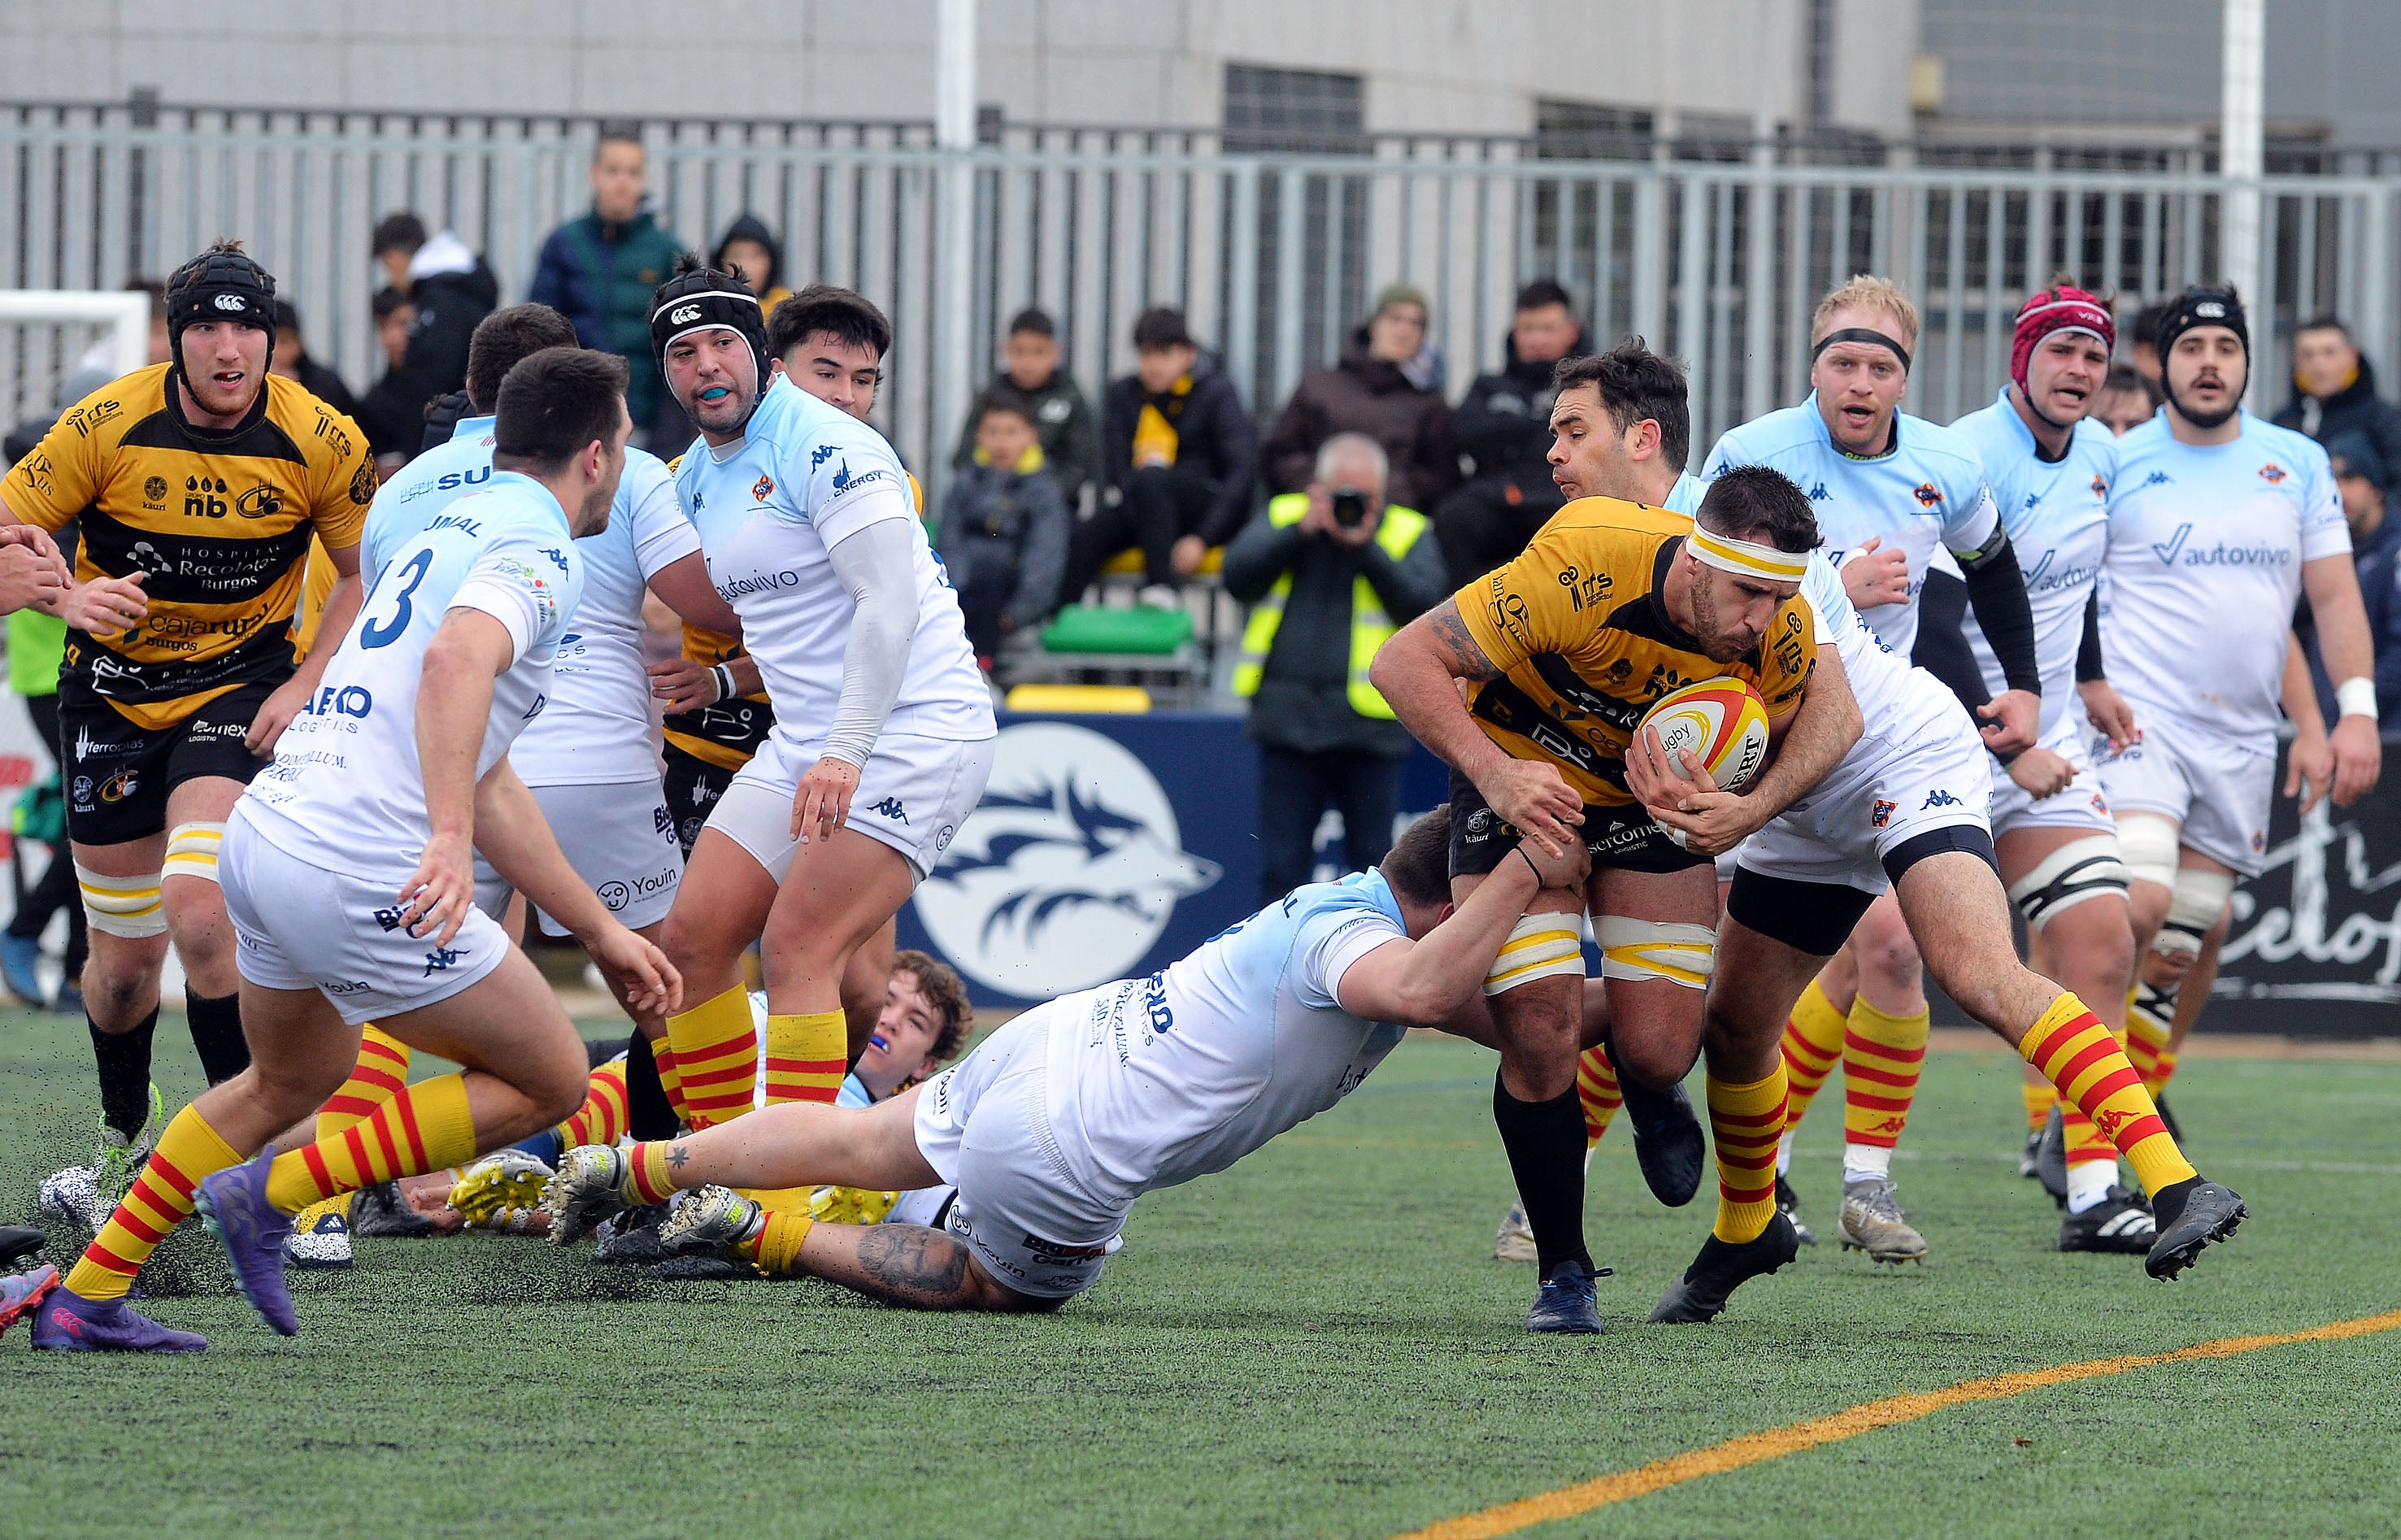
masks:
{"type": "Polygon", "coordinates": [[[1335,990],[1400,939],[1381,872],[1294,889],[1150,978],[1073,997],[1049,1028],[1044,1112],[1102,1204],[1191,1182],[1335,1105],[1400,1043],[1335,990]]]}

